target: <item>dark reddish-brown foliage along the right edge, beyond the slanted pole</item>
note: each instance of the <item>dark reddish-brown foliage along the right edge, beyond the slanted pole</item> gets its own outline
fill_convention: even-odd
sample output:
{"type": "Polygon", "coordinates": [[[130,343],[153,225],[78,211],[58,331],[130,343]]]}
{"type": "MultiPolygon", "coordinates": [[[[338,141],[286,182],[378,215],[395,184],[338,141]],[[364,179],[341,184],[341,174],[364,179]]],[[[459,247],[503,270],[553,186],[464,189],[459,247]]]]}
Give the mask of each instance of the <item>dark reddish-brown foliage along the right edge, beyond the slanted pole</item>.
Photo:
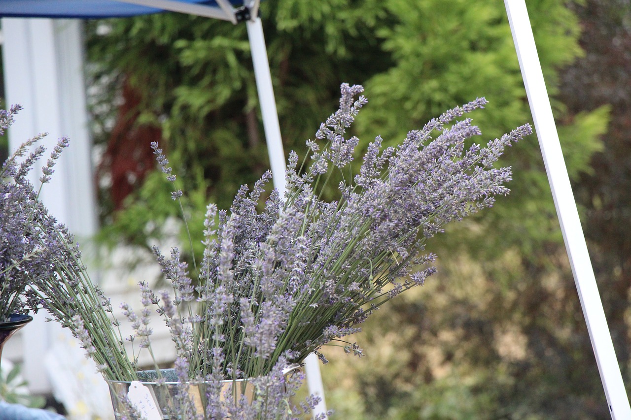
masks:
{"type": "Polygon", "coordinates": [[[588,0],[573,7],[584,28],[585,56],[562,75],[560,98],[571,113],[611,107],[604,148],[593,170],[574,183],[585,207],[583,226],[592,263],[625,382],[631,375],[628,336],[628,291],[631,288],[631,4],[588,0]]]}

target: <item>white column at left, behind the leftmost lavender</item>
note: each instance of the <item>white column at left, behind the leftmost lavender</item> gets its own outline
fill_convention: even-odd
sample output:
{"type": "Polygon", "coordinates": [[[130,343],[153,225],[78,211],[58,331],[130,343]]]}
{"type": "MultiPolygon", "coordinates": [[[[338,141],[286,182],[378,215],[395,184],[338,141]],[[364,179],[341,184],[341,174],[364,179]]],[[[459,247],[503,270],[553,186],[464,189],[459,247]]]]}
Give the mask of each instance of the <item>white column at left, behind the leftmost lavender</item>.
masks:
{"type": "MultiPolygon", "coordinates": [[[[70,137],[54,167],[42,201],[65,223],[78,241],[97,228],[96,200],[90,158],[90,136],[83,79],[81,21],[3,18],[3,67],[6,105],[23,110],[9,129],[9,149],[39,132],[49,132],[42,144],[52,150],[57,139],[70,137]]],[[[45,164],[46,155],[44,156],[45,164]]],[[[40,173],[35,165],[33,185],[40,173]]],[[[32,392],[49,392],[44,375],[44,354],[51,346],[57,324],[45,323],[38,313],[23,331],[23,373],[32,392]]]]}

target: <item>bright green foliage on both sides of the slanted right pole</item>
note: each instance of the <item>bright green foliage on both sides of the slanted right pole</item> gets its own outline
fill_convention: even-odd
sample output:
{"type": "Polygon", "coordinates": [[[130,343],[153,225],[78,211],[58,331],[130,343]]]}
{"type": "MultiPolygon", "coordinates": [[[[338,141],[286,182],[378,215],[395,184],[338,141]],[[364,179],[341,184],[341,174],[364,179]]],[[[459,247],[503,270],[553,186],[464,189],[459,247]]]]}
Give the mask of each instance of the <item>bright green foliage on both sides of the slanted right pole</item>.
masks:
{"type": "MultiPolygon", "coordinates": [[[[477,96],[490,101],[485,112],[473,115],[485,134],[499,136],[502,127],[530,120],[501,4],[392,0],[384,2],[384,7],[398,17],[395,25],[378,31],[394,65],[365,83],[371,101],[357,122],[365,143],[377,134],[401,139],[410,119],[420,124],[442,108],[477,96]]],[[[554,95],[557,69],[581,51],[577,18],[560,1],[531,1],[528,7],[548,91],[554,95]]],[[[555,105],[558,119],[569,121],[559,134],[570,175],[575,178],[587,170],[589,156],[601,149],[598,136],[606,127],[607,110],[586,112],[572,121],[562,111],[562,104],[555,105]]],[[[529,139],[516,148],[518,152],[505,158],[515,173],[510,199],[500,200],[495,211],[484,215],[481,223],[485,229],[454,227],[457,233],[445,237],[447,250],[463,243],[466,250],[462,251],[473,250],[479,258],[489,259],[507,247],[517,246],[528,253],[544,242],[562,240],[539,145],[529,139]],[[470,237],[463,241],[463,235],[470,237]],[[449,242],[450,238],[454,240],[449,242]]]]}

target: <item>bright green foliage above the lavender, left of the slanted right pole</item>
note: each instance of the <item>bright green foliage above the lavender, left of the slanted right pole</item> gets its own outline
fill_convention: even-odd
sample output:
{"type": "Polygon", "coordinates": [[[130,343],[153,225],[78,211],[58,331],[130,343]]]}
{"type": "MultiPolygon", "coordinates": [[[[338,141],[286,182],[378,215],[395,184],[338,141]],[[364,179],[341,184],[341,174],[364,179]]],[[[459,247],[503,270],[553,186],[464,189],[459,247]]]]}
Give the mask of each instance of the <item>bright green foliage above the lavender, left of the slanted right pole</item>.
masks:
{"type": "Polygon", "coordinates": [[[378,32],[394,66],[366,83],[373,96],[358,120],[362,132],[401,138],[410,120],[422,124],[428,115],[478,96],[499,110],[480,115],[483,132],[497,136],[500,127],[520,120],[521,76],[503,8],[493,2],[384,3],[398,17],[378,32]]]}

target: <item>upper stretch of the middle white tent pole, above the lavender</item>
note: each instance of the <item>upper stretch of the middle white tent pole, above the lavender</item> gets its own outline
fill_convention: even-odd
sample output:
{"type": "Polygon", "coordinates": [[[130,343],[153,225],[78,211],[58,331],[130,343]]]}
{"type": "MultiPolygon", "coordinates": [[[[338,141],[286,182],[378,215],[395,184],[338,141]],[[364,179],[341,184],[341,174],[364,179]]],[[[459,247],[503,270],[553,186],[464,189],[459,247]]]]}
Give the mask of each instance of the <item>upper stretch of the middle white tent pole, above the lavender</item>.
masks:
{"type": "Polygon", "coordinates": [[[269,73],[268,53],[265,47],[265,38],[263,37],[263,25],[261,18],[248,20],[246,25],[247,36],[250,40],[250,49],[252,50],[256,88],[259,93],[259,102],[261,103],[261,115],[263,117],[263,128],[268,146],[272,180],[280,196],[285,197],[285,152],[283,151],[283,141],[280,136],[280,125],[278,124],[278,112],[276,111],[272,78],[269,73]]]}

